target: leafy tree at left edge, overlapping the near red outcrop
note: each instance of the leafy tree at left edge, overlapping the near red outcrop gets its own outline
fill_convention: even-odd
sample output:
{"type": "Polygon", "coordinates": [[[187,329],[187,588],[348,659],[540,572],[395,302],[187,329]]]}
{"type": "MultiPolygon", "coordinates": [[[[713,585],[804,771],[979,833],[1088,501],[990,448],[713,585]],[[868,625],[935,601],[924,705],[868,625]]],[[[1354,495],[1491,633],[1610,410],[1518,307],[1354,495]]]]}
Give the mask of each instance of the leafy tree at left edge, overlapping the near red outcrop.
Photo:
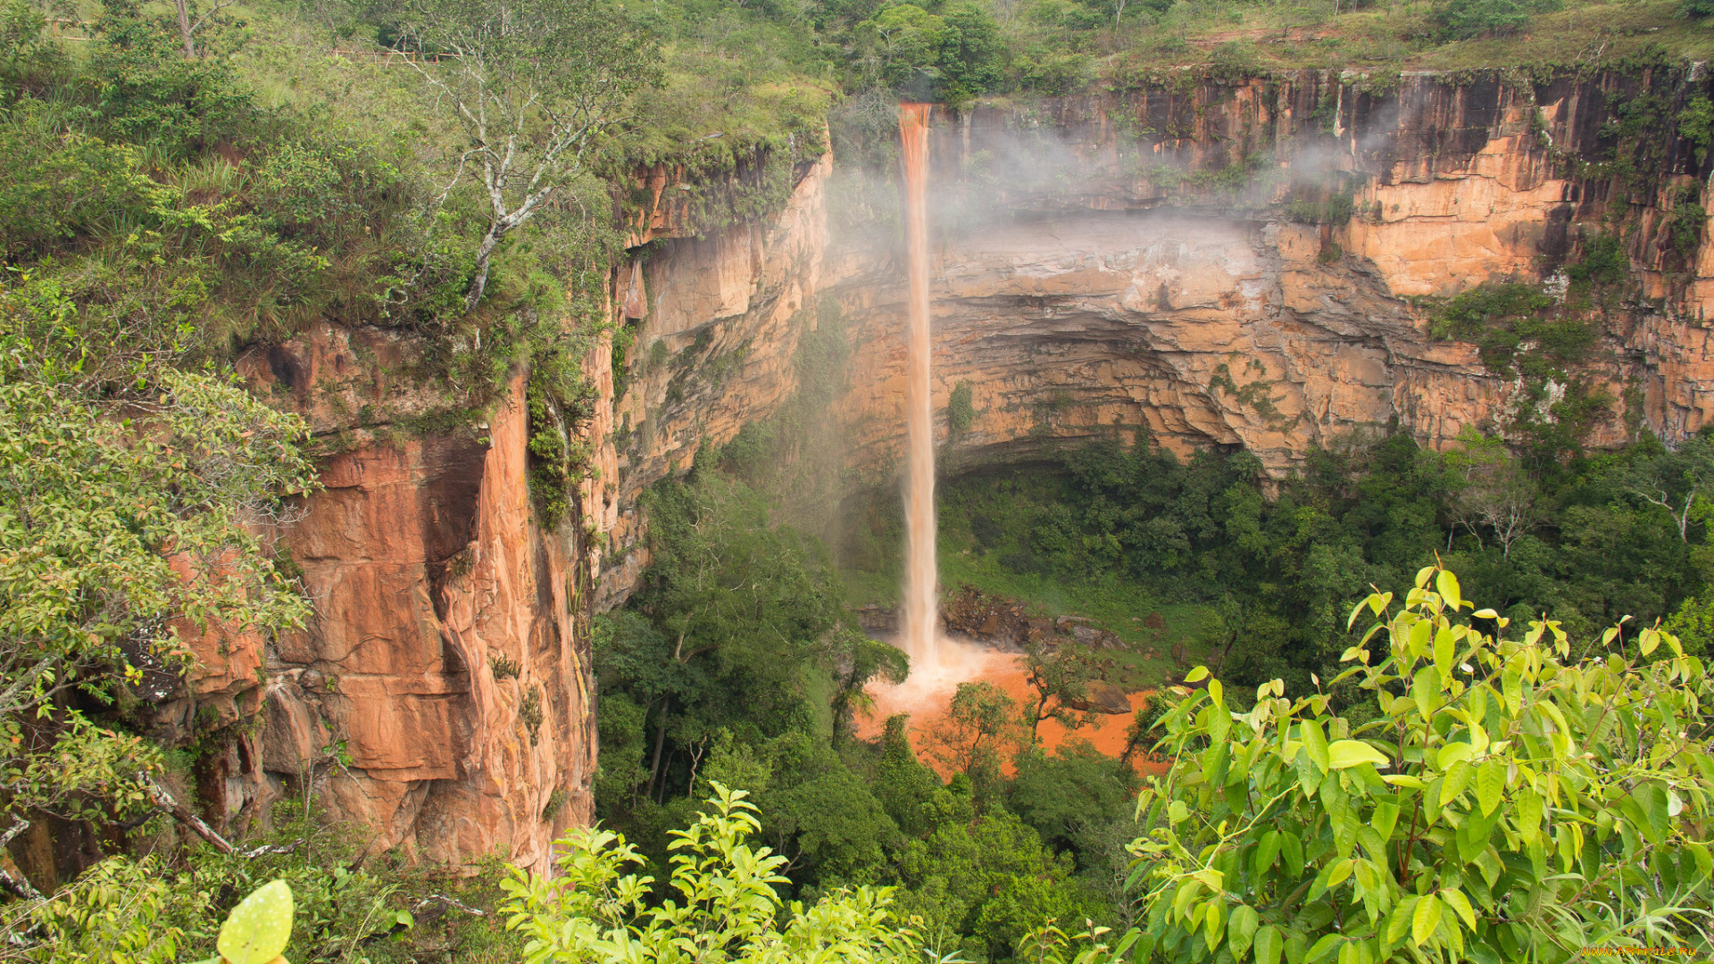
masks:
{"type": "Polygon", "coordinates": [[[120,419],[15,358],[0,358],[7,810],[105,820],[147,806],[137,770],[154,763],[84,710],[161,688],[189,660],[187,631],[309,616],[247,527],[315,485],[309,429],[230,381],[177,372],[120,419]]]}

